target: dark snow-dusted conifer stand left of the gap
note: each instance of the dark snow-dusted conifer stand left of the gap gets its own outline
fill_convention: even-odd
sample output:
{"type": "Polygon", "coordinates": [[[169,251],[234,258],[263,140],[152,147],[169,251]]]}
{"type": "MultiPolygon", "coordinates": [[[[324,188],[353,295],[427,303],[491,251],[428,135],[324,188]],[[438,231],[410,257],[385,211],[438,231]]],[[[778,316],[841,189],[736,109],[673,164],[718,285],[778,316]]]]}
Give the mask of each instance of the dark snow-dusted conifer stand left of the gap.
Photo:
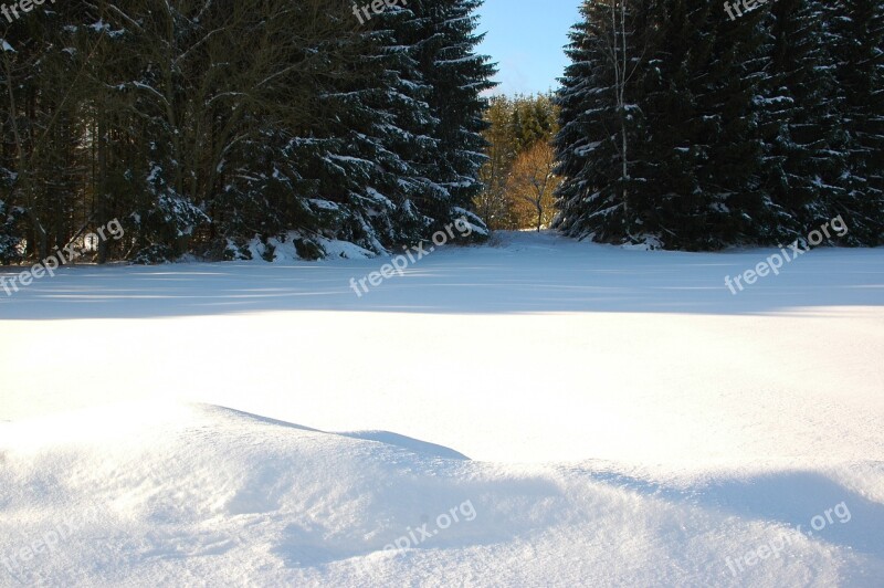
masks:
{"type": "Polygon", "coordinates": [[[98,262],[240,259],[271,238],[379,253],[464,214],[481,228],[478,4],[360,24],[349,0],[95,0],[0,22],[0,263],[113,219],[126,238],[98,262]]]}

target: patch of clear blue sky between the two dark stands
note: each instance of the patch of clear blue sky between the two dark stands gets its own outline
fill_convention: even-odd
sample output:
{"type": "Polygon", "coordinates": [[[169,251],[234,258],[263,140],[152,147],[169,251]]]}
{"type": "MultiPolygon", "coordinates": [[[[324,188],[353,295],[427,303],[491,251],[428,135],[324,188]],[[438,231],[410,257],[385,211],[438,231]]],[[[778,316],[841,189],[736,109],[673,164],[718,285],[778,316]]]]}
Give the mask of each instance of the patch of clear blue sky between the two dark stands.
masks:
{"type": "Polygon", "coordinates": [[[493,94],[530,94],[558,87],[567,57],[562,48],[578,20],[580,0],[485,0],[478,52],[497,62],[493,94]]]}

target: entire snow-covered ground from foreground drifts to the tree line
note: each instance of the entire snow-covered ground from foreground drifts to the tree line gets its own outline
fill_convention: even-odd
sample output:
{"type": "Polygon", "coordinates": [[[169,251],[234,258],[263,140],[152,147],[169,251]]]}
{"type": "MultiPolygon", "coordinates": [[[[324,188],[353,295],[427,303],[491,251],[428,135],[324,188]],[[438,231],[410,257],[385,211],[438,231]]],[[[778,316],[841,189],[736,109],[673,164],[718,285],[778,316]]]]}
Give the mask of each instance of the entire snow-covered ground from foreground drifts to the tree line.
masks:
{"type": "Polygon", "coordinates": [[[0,585],[880,587],[884,250],[771,253],[0,291],[0,585]]]}

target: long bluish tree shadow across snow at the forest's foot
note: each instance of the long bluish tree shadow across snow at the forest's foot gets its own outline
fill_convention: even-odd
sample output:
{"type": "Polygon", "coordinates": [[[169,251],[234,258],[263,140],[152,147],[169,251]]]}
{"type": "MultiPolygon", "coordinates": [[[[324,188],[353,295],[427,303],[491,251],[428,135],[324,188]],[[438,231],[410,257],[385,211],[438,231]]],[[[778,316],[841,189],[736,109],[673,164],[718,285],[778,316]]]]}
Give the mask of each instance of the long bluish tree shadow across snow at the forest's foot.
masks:
{"type": "MultiPolygon", "coordinates": [[[[367,279],[390,259],[65,267],[12,296],[0,288],[0,319],[278,311],[740,315],[884,303],[882,249],[817,249],[779,275],[732,293],[726,276],[753,270],[777,251],[645,252],[516,234],[505,248],[446,248],[377,286],[367,279]]],[[[0,269],[0,277],[22,270],[0,269]]]]}

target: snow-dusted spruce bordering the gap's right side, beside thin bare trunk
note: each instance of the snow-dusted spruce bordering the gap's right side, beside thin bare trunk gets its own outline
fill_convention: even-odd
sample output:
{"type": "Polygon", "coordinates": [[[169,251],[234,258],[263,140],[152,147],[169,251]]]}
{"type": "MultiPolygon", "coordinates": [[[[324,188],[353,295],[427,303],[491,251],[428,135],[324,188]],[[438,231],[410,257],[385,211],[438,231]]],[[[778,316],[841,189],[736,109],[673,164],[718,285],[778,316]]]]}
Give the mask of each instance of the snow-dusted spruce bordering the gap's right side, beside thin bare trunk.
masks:
{"type": "MultiPolygon", "coordinates": [[[[555,139],[556,172],[565,181],[557,191],[560,213],[554,227],[570,237],[615,242],[632,223],[628,148],[636,143],[636,118],[631,104],[618,98],[632,90],[634,20],[622,0],[587,1],[581,15],[569,34],[571,63],[556,99],[561,126],[555,139]],[[609,50],[614,46],[615,52],[609,50]],[[621,71],[624,59],[628,71],[621,71]]],[[[634,99],[632,92],[625,95],[634,99]]]]}

